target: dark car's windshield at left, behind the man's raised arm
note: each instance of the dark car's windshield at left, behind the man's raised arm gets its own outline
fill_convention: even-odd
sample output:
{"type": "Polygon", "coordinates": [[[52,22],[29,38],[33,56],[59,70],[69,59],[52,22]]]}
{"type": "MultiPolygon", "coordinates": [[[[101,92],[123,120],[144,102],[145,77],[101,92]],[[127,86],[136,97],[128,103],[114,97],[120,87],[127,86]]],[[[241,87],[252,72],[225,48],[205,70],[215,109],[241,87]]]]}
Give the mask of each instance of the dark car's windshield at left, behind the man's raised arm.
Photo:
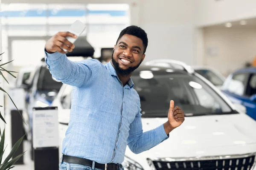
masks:
{"type": "Polygon", "coordinates": [[[57,82],[52,78],[47,67],[41,67],[38,79],[38,90],[39,91],[59,91],[62,82],[57,82]]]}

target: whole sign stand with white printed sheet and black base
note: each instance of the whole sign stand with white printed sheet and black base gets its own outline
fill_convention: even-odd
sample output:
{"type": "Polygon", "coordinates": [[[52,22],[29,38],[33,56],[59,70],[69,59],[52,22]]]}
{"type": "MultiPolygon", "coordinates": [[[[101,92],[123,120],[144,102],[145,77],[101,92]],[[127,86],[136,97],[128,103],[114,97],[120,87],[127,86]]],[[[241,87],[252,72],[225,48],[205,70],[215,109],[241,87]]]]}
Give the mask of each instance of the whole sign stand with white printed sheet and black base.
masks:
{"type": "Polygon", "coordinates": [[[58,170],[58,108],[33,108],[34,170],[58,170]]]}

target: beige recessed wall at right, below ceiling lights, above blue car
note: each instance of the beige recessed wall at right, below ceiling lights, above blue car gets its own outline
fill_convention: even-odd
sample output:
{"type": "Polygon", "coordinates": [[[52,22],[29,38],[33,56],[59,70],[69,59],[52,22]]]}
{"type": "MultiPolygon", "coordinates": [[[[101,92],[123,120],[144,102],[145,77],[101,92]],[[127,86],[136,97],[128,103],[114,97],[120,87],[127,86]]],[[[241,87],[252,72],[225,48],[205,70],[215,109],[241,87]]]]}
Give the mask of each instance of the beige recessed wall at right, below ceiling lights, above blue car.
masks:
{"type": "Polygon", "coordinates": [[[245,62],[252,62],[256,56],[256,28],[205,28],[204,64],[227,75],[242,68],[245,62]],[[207,49],[216,52],[209,55],[207,49]]]}

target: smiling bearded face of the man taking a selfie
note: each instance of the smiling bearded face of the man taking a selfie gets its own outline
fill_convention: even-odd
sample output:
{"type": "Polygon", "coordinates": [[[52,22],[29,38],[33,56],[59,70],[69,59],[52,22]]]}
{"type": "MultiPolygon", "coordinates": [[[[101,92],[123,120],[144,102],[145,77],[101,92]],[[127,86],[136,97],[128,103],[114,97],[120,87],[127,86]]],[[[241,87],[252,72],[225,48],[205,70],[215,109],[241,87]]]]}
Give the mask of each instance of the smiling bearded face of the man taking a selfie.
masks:
{"type": "Polygon", "coordinates": [[[144,46],[140,38],[124,34],[113,50],[112,63],[116,72],[121,75],[131,74],[144,60],[144,46]]]}

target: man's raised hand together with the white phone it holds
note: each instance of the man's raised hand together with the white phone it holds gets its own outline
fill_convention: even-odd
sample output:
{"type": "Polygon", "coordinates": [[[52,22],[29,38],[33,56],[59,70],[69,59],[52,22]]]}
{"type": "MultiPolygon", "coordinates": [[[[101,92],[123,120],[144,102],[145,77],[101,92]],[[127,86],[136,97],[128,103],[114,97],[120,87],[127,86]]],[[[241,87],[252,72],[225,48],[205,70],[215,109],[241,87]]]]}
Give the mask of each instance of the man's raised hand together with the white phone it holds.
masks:
{"type": "Polygon", "coordinates": [[[60,52],[66,54],[67,51],[72,51],[74,42],[79,37],[79,35],[84,31],[85,26],[81,21],[77,20],[74,22],[68,31],[58,32],[52,36],[45,45],[45,50],[48,53],[60,52]]]}

